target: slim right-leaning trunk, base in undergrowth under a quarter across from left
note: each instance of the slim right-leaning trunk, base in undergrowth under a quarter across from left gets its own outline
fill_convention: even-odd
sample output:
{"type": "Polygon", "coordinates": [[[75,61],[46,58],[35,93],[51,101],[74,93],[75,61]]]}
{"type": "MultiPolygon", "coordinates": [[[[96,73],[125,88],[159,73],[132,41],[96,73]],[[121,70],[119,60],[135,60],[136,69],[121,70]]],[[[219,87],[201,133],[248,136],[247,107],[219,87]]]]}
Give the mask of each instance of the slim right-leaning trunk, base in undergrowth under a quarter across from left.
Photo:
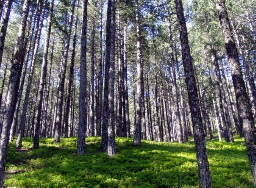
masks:
{"type": "Polygon", "coordinates": [[[57,119],[56,119],[56,128],[54,133],[54,143],[61,141],[61,125],[62,125],[62,110],[63,110],[63,99],[64,99],[64,89],[65,89],[65,76],[66,76],[66,69],[67,69],[67,62],[68,62],[68,55],[69,55],[69,44],[71,38],[71,29],[73,25],[73,17],[74,11],[76,6],[76,0],[72,2],[72,10],[69,16],[69,27],[67,30],[67,38],[64,48],[64,55],[62,67],[61,67],[61,78],[60,78],[60,85],[59,85],[59,92],[58,92],[58,103],[57,103],[57,119]]]}

